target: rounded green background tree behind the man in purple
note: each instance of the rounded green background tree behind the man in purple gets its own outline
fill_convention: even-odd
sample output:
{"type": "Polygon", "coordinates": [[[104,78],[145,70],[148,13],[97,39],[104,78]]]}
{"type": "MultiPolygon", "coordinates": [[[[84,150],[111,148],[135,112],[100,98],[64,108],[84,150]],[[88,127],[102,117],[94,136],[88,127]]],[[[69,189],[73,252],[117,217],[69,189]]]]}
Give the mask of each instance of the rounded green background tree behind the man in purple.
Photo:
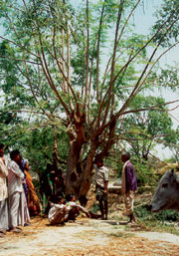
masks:
{"type": "Polygon", "coordinates": [[[162,98],[138,95],[130,104],[134,112],[125,118],[122,132],[131,146],[131,154],[140,160],[147,160],[149,152],[156,145],[155,138],[161,143],[171,141],[168,134],[173,133],[172,121],[164,103],[162,98]],[[151,106],[155,108],[151,109],[151,106]],[[159,108],[162,111],[159,112],[159,108]]]}

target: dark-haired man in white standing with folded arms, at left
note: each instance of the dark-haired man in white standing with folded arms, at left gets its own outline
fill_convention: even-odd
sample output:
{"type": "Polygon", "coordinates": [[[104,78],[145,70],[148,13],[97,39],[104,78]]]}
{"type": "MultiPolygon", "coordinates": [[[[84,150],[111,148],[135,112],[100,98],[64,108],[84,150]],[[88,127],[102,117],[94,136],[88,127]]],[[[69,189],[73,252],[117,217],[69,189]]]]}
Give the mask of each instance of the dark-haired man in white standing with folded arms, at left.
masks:
{"type": "MultiPolygon", "coordinates": [[[[19,233],[19,220],[24,222],[24,209],[21,203],[23,184],[22,179],[24,173],[19,168],[20,152],[19,150],[12,150],[10,152],[11,161],[8,165],[8,191],[9,191],[9,220],[10,229],[12,232],[19,233]]],[[[24,225],[24,223],[23,223],[24,225]]]]}

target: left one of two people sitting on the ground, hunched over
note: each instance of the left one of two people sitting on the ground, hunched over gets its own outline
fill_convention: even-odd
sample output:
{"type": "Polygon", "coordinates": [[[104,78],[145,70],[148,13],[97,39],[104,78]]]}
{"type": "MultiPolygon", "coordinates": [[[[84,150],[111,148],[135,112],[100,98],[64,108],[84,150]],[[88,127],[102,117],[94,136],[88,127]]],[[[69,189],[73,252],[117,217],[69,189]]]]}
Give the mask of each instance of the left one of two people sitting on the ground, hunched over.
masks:
{"type": "Polygon", "coordinates": [[[56,196],[55,203],[51,202],[48,219],[51,225],[63,224],[68,220],[67,206],[64,204],[63,196],[56,196]]]}

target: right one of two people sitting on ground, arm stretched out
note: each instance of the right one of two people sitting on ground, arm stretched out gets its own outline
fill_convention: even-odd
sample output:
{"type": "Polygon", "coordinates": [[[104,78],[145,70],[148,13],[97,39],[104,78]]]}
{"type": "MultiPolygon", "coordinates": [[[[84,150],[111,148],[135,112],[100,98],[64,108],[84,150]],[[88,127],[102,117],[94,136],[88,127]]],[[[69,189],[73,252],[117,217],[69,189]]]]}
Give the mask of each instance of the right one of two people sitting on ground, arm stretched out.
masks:
{"type": "Polygon", "coordinates": [[[89,211],[78,202],[76,202],[76,197],[74,194],[68,194],[66,196],[66,205],[67,210],[69,211],[68,220],[75,221],[76,218],[80,215],[81,211],[83,211],[88,217],[90,217],[89,211]]]}

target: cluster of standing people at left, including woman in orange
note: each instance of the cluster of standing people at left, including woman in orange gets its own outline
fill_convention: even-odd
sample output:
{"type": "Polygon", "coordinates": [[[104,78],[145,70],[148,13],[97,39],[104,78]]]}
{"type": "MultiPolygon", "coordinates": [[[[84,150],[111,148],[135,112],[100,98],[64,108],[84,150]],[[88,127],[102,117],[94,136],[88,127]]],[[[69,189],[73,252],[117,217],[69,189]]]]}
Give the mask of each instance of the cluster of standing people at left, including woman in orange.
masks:
{"type": "Polygon", "coordinates": [[[21,232],[19,226],[30,224],[30,213],[40,211],[28,162],[18,149],[10,152],[10,158],[6,165],[4,144],[0,143],[0,237],[6,230],[21,232]]]}

